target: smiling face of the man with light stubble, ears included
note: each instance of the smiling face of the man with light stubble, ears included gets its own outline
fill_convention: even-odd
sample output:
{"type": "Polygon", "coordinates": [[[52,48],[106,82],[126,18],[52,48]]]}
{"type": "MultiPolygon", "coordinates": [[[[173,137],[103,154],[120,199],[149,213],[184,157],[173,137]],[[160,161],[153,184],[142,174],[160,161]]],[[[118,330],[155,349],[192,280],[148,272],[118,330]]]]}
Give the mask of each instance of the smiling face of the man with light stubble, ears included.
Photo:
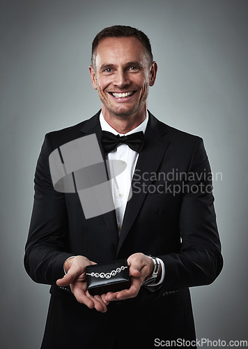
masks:
{"type": "Polygon", "coordinates": [[[145,112],[157,64],[153,62],[150,66],[144,46],[136,37],[104,38],[98,45],[90,73],[103,112],[126,118],[145,112]]]}

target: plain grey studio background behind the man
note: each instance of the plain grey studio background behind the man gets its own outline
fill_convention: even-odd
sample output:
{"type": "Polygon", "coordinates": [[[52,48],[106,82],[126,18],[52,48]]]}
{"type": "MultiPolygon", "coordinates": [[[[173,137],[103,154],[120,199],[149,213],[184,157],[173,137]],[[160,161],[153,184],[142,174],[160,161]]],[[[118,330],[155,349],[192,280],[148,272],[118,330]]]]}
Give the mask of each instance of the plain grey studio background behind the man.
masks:
{"type": "MultiPolygon", "coordinates": [[[[224,270],[192,289],[198,339],[247,338],[247,0],[1,0],[1,348],[40,346],[49,286],[23,255],[33,174],[45,133],[100,109],[88,74],[91,41],[129,24],[159,66],[149,109],[200,135],[215,181],[224,270]]],[[[63,336],[63,334],[61,334],[63,336]]]]}

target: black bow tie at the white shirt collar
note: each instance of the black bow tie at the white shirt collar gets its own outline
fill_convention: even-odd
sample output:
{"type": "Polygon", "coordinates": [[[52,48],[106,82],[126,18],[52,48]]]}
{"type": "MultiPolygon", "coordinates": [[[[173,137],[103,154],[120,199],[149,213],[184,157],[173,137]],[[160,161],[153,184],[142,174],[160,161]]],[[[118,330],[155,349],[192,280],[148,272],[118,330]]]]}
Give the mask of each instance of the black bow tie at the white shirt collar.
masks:
{"type": "Polygon", "coordinates": [[[142,131],[132,133],[131,135],[114,135],[108,131],[102,131],[102,146],[104,151],[109,153],[118,147],[119,144],[127,144],[130,149],[141,152],[144,146],[144,133],[142,131]]]}

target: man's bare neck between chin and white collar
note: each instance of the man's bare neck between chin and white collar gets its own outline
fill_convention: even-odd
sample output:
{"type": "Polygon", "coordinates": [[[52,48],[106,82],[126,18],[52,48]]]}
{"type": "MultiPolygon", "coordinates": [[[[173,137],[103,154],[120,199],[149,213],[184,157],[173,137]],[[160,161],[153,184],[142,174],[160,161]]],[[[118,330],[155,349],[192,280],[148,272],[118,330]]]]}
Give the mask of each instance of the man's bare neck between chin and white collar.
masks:
{"type": "Polygon", "coordinates": [[[118,133],[125,134],[132,131],[134,128],[139,126],[144,119],[146,119],[147,110],[144,107],[144,111],[139,114],[134,114],[130,117],[117,117],[116,115],[110,114],[102,105],[102,115],[107,123],[114,128],[118,133]]]}

